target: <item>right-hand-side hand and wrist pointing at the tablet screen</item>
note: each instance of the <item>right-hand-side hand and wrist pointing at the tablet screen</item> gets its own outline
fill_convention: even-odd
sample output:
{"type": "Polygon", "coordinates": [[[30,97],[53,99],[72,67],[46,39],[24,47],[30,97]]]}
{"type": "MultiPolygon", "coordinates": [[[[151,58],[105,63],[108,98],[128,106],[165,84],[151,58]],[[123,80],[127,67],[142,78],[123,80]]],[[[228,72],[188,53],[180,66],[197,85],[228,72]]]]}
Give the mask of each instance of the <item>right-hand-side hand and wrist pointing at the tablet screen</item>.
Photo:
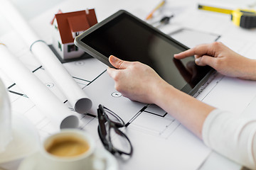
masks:
{"type": "Polygon", "coordinates": [[[194,55],[199,66],[209,65],[228,77],[256,80],[256,61],[242,57],[221,42],[213,42],[174,55],[176,59],[194,55]]]}

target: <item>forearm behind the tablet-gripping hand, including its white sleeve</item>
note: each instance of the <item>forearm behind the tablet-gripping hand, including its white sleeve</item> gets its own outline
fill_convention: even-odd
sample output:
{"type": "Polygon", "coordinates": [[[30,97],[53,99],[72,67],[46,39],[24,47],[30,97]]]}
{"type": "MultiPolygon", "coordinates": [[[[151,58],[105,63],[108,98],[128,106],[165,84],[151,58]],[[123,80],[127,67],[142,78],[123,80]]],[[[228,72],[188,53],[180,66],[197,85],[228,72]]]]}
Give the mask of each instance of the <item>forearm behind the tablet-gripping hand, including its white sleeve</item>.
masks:
{"type": "Polygon", "coordinates": [[[256,169],[256,120],[220,111],[161,82],[154,103],[225,157],[256,169]]]}

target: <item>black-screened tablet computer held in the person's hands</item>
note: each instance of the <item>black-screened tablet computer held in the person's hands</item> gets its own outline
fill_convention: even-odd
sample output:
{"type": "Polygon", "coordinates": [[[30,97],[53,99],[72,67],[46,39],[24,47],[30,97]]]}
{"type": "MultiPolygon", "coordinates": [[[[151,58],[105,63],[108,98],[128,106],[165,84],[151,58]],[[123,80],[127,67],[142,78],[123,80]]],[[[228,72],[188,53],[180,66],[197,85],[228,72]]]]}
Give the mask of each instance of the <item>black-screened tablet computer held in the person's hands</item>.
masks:
{"type": "Polygon", "coordinates": [[[213,72],[211,67],[197,66],[193,56],[174,59],[174,54],[188,47],[124,10],[78,35],[75,45],[110,67],[110,55],[147,64],[169,84],[191,96],[213,72]]]}

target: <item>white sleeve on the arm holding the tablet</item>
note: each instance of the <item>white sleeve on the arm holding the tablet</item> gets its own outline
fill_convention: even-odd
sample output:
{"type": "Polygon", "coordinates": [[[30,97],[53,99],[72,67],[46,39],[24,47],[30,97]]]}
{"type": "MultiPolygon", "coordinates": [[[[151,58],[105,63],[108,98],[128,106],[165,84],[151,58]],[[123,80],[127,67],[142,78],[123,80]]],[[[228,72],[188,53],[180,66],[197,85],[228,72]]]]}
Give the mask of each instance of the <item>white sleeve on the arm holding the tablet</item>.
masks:
{"type": "Polygon", "coordinates": [[[203,142],[216,152],[256,169],[256,120],[215,109],[202,130],[203,142]]]}

